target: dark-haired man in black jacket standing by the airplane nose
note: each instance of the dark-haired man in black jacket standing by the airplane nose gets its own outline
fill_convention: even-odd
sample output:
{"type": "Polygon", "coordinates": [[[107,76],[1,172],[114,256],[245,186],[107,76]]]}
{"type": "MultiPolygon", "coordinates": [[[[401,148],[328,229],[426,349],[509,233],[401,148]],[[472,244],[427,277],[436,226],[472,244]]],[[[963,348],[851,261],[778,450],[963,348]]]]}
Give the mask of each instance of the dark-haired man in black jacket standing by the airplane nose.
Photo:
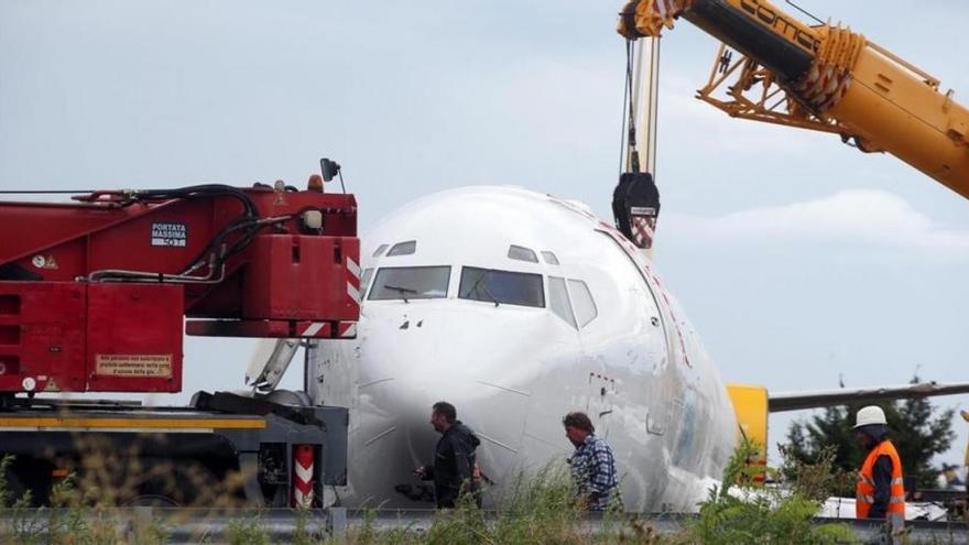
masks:
{"type": "Polygon", "coordinates": [[[434,404],[431,425],[440,434],[434,462],[414,470],[421,479],[434,481],[438,509],[454,508],[461,493],[470,493],[480,504],[475,449],[481,443],[468,426],[457,419],[457,410],[446,401],[434,404]]]}

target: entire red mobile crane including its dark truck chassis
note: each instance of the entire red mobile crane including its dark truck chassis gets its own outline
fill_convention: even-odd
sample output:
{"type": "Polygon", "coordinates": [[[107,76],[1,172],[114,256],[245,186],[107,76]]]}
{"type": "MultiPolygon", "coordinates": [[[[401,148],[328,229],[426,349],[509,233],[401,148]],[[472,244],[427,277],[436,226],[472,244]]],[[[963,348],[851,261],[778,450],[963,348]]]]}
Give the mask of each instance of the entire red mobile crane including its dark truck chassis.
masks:
{"type": "Polygon", "coordinates": [[[108,460],[97,486],[130,505],[309,508],[322,486],[346,484],[346,407],[227,392],[197,392],[188,407],[50,395],[179,392],[183,325],[353,338],[357,201],[324,190],[339,165],[320,164],[303,190],[277,181],[0,201],[0,457],[12,457],[0,477],[11,498],[51,503],[72,472],[99,478],[88,459],[108,460]]]}

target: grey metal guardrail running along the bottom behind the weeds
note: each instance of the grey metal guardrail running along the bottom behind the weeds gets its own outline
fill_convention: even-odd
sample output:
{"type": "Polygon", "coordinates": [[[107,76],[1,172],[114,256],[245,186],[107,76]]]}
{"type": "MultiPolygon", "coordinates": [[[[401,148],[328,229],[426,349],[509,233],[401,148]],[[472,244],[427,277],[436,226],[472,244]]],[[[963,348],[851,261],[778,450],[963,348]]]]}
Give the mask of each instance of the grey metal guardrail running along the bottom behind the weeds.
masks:
{"type": "MultiPolygon", "coordinates": [[[[486,520],[494,520],[494,512],[486,511],[486,520]]],[[[18,531],[40,536],[43,542],[51,531],[69,531],[70,521],[77,522],[77,511],[40,509],[13,513],[0,513],[0,541],[15,537],[18,531]],[[72,519],[74,517],[74,519],[72,519]]],[[[173,508],[124,508],[91,510],[81,514],[80,520],[88,525],[110,525],[119,537],[129,543],[142,543],[146,536],[161,531],[165,543],[173,545],[194,543],[226,543],[233,534],[261,532],[270,543],[290,543],[303,536],[319,539],[325,536],[339,537],[348,530],[369,526],[381,532],[406,528],[415,533],[427,531],[440,514],[434,510],[372,510],[348,511],[345,508],[326,510],[294,511],[288,509],[214,511],[206,509],[173,508]]],[[[671,534],[683,528],[684,523],[694,519],[690,514],[631,514],[660,534],[671,534]]],[[[846,519],[815,519],[817,524],[847,524],[862,543],[890,543],[885,526],[878,521],[856,521],[846,519]]],[[[622,521],[590,513],[581,521],[586,532],[596,533],[605,525],[621,525],[622,521]]],[[[969,545],[969,524],[965,522],[906,522],[905,543],[967,544],[969,545]]],[[[22,534],[21,534],[22,535],[22,534]]]]}

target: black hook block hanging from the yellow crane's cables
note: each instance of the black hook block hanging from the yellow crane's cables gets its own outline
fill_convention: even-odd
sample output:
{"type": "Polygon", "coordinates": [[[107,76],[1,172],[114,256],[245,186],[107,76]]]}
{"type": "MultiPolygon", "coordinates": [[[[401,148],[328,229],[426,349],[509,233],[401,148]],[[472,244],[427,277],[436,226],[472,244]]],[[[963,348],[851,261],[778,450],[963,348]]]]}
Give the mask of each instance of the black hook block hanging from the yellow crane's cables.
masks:
{"type": "Polygon", "coordinates": [[[624,172],[612,192],[616,228],[639,248],[653,247],[660,216],[660,188],[647,172],[624,172]]]}

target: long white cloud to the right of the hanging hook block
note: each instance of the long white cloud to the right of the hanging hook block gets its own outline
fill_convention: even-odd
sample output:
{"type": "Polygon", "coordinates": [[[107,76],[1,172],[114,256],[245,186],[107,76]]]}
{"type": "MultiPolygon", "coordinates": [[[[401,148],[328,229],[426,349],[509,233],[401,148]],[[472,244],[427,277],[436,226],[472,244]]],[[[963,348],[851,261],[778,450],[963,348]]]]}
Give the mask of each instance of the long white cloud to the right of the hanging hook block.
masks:
{"type": "Polygon", "coordinates": [[[685,243],[875,246],[969,258],[969,231],[945,229],[897,195],[872,189],[718,217],[669,214],[660,221],[685,243]]]}

